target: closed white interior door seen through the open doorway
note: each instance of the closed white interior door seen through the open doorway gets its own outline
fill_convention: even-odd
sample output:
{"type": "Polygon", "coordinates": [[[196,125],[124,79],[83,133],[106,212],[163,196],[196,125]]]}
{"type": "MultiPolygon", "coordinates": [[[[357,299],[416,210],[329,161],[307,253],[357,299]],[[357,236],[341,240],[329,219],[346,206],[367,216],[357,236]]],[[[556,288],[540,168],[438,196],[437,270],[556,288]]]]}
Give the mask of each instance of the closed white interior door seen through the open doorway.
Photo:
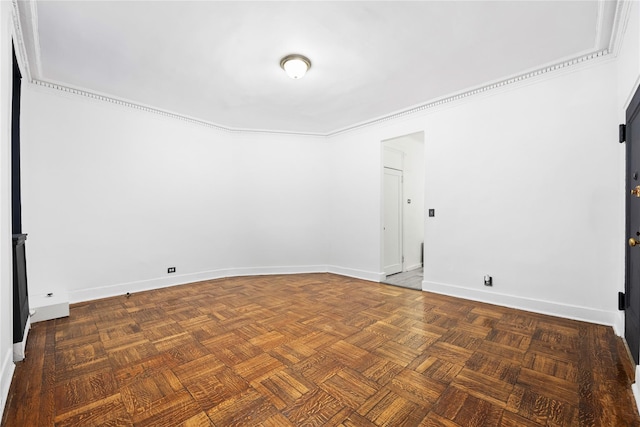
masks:
{"type": "Polygon", "coordinates": [[[402,272],[402,171],[384,168],[384,272],[402,272]]]}

